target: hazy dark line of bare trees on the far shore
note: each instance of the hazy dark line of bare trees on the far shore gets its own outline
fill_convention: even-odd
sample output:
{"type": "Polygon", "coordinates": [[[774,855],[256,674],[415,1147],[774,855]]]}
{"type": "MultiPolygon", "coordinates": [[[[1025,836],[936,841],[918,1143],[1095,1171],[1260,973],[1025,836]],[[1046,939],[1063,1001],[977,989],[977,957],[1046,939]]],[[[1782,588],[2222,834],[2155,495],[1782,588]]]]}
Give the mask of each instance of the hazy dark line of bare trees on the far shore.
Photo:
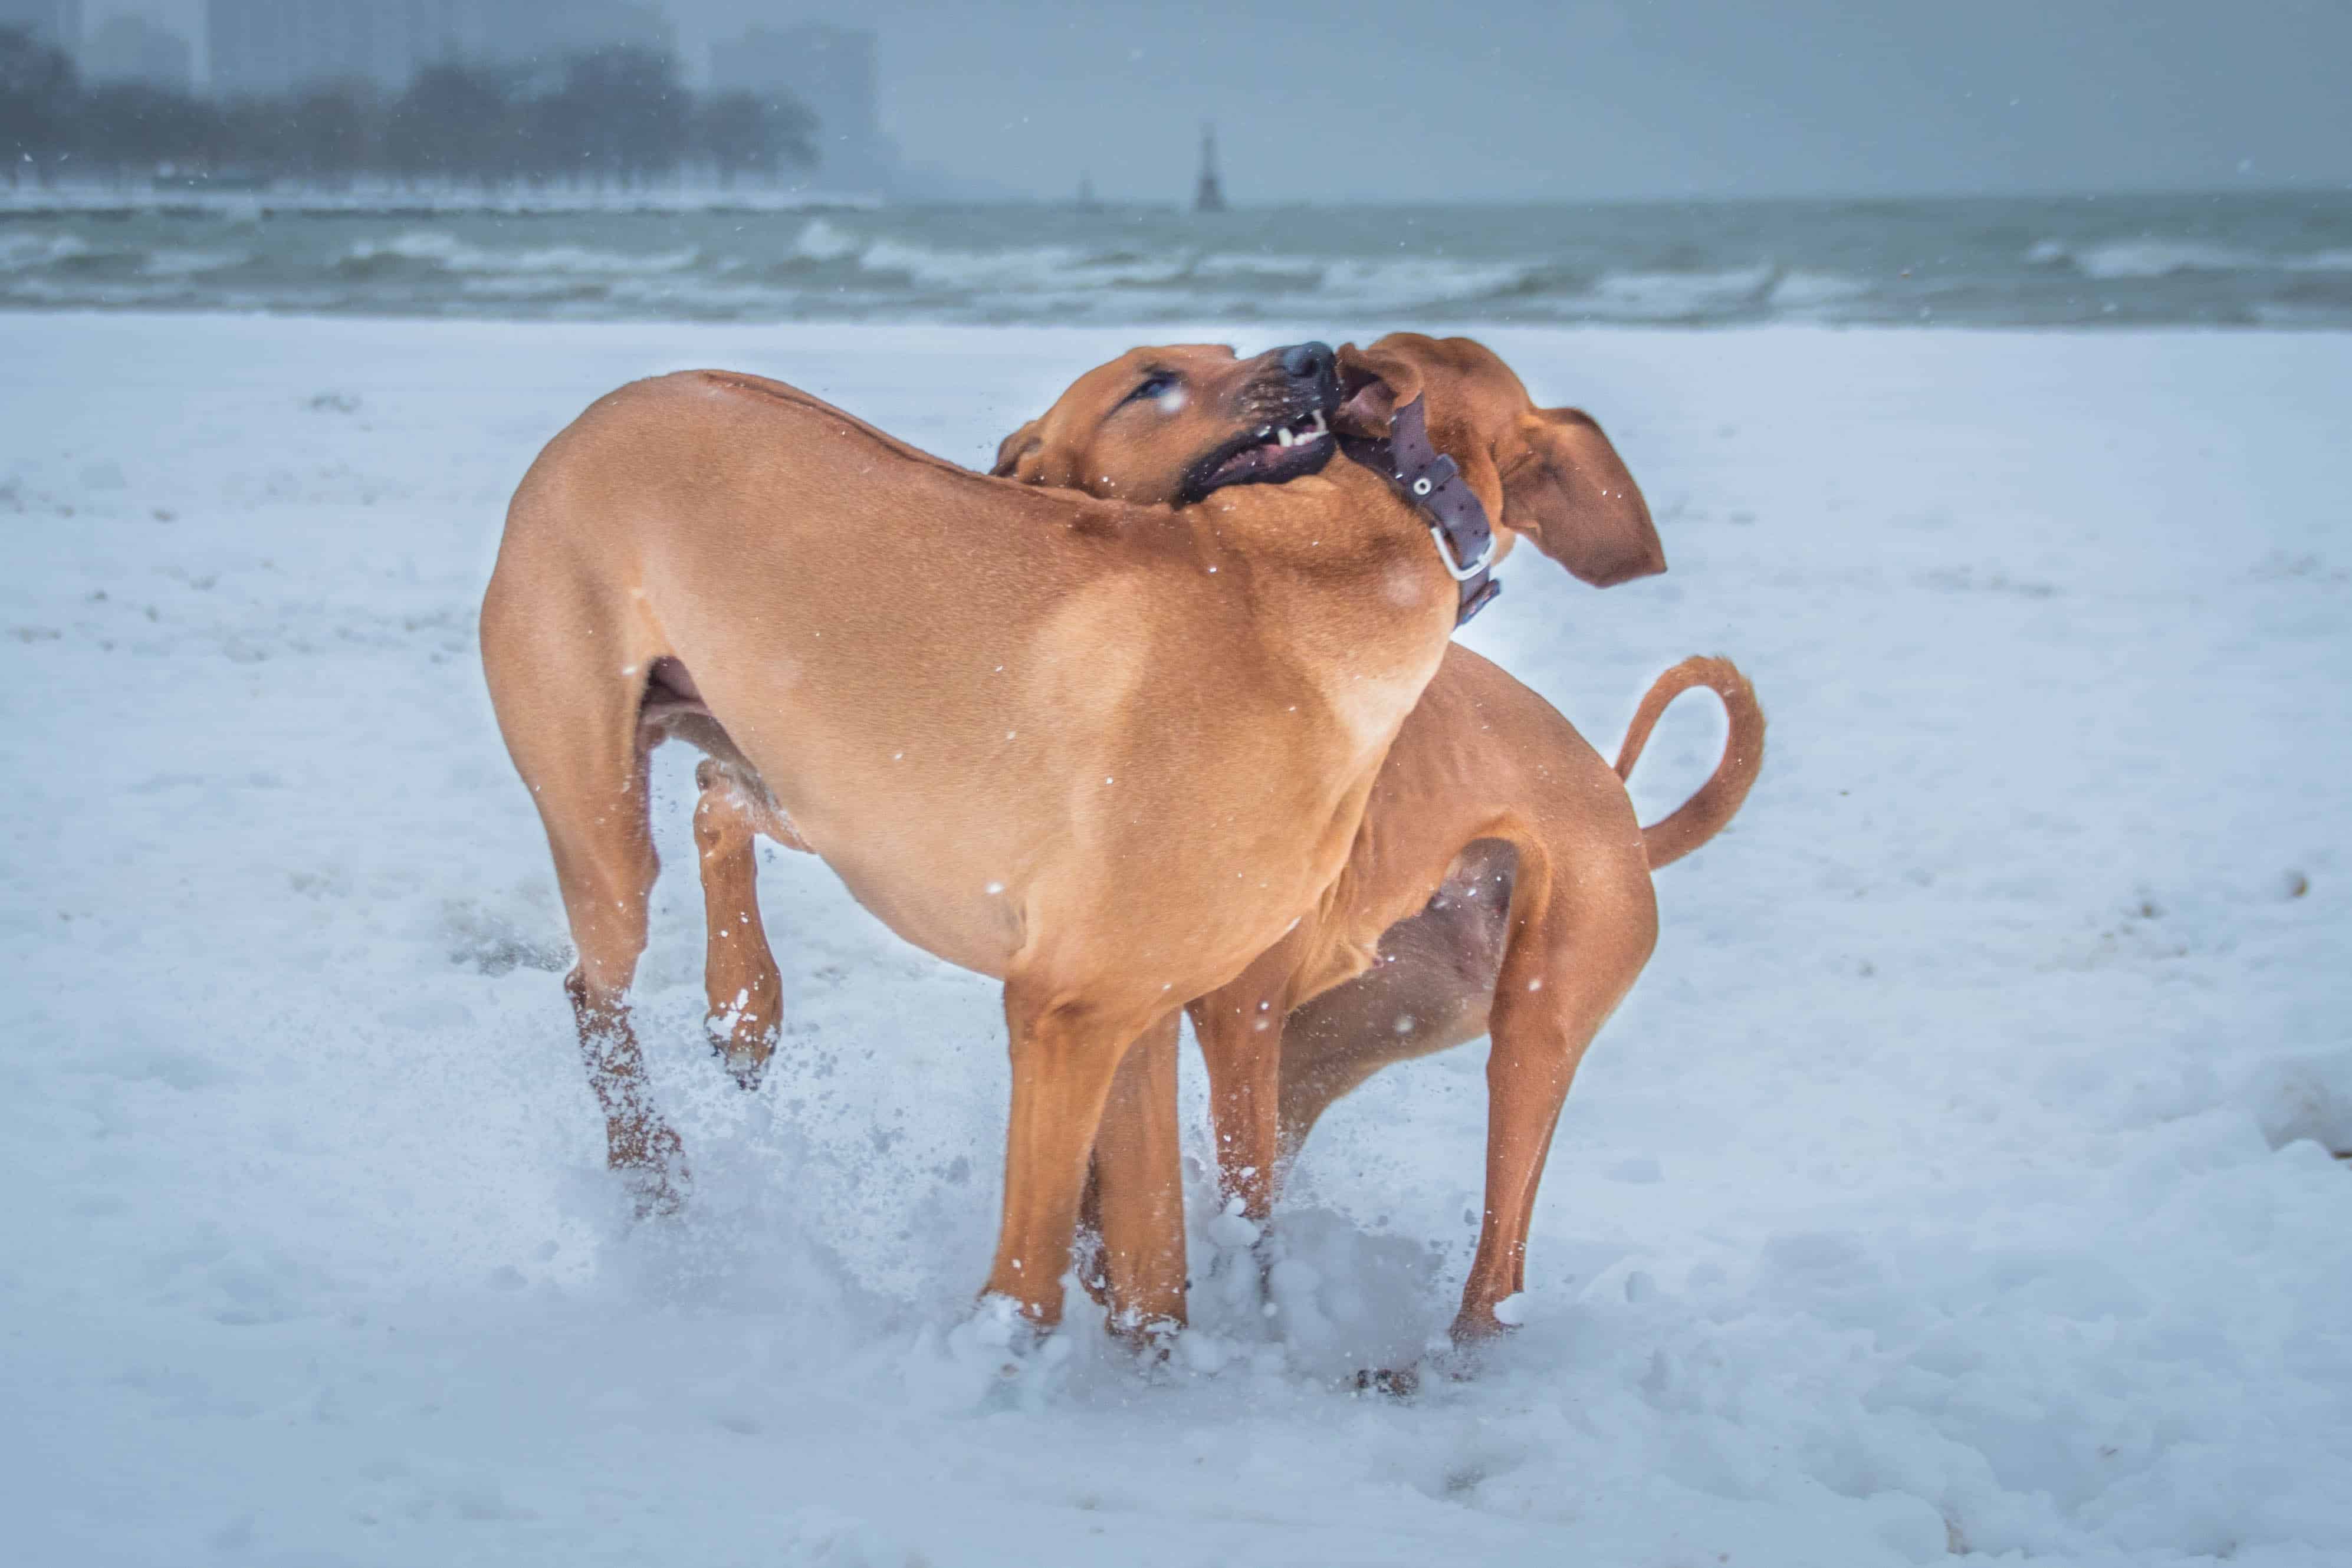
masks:
{"type": "Polygon", "coordinates": [[[640,47],[550,68],[440,63],[405,92],[322,82],[200,99],[151,82],[82,85],[73,61],[0,28],[0,162],[21,179],[294,179],[637,188],[703,169],[731,186],[816,165],[816,115],[776,94],[696,94],[640,47]]]}

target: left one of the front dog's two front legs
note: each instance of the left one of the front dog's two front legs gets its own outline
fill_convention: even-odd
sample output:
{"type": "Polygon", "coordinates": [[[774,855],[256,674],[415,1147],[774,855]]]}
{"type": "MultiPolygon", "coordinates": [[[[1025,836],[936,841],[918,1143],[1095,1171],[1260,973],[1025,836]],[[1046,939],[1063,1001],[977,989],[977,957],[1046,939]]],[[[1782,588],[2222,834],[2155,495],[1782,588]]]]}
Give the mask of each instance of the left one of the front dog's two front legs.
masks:
{"type": "Polygon", "coordinates": [[[1042,985],[1004,983],[1014,1105],[1004,1138],[1004,1220],[988,1293],[1021,1307],[1035,1328],[1061,1321],[1077,1204],[1103,1105],[1127,1048],[1152,1013],[1042,985]]]}

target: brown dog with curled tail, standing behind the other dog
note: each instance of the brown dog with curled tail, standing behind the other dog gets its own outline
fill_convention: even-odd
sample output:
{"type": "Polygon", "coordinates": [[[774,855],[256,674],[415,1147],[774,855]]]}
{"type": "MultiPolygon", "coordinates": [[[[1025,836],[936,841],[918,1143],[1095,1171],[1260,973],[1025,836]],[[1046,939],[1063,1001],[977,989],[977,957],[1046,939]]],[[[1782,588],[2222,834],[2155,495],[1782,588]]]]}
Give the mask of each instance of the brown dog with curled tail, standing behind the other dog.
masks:
{"type": "MultiPolygon", "coordinates": [[[[1404,341],[1423,355],[1442,348],[1385,339],[1404,341]]],[[[1134,350],[1115,367],[1167,355],[1134,350]]],[[[997,473],[1101,496],[1174,494],[1178,475],[1150,425],[1120,418],[1117,388],[1101,371],[1080,378],[1004,437],[997,473]]],[[[1597,435],[1576,409],[1543,418],[1597,435]]],[[[1390,1063],[1491,1034],[1486,1211],[1454,1333],[1494,1333],[1496,1307],[1524,1284],[1536,1182],[1569,1081],[1656,940],[1649,875],[1731,820],[1762,759],[1764,715],[1726,661],[1691,658],[1663,675],[1611,771],[1550,703],[1449,646],[1388,750],[1336,893],[1190,1006],[1225,1194],[1263,1222],[1334,1100],[1390,1063]],[[1693,686],[1724,701],[1724,757],[1698,795],[1639,830],[1623,780],[1665,705],[1693,686]]]]}

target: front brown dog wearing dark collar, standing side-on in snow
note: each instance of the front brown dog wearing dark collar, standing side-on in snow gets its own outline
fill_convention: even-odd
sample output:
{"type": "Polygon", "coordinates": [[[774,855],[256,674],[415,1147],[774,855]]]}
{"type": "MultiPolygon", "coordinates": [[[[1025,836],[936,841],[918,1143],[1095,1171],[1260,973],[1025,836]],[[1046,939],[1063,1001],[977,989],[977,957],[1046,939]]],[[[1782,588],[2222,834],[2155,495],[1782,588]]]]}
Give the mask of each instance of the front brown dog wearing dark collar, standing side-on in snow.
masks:
{"type": "MultiPolygon", "coordinates": [[[[1475,343],[1115,376],[1188,505],[974,475],[753,376],[621,388],[532,465],[482,602],[612,1164],[675,1201],[628,985],[647,750],[677,733],[896,933],[1004,978],[988,1291],[1040,1326],[1098,1131],[1112,1300],[1181,1319],[1174,1009],[1317,924],[1454,628],[1423,512],[1324,421],[1385,437],[1418,400],[1489,517],[1588,574],[1658,562],[1599,433],[1548,423],[1475,343]]],[[[771,1032],[739,1039],[753,1070],[771,1032]]]]}

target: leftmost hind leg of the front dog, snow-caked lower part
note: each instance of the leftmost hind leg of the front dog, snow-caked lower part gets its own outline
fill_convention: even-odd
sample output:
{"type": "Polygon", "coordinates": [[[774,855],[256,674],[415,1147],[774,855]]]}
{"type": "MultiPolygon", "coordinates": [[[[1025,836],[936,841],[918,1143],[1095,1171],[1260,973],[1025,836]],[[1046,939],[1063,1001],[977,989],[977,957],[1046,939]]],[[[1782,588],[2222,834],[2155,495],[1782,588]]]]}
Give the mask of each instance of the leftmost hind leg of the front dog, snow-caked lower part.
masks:
{"type": "MultiPolygon", "coordinates": [[[[508,562],[501,559],[501,578],[508,562]]],[[[529,785],[555,856],[579,964],[564,978],[588,1088],[604,1110],[607,1161],[630,1178],[640,1213],[680,1204],[677,1133],[654,1110],[628,987],[644,952],[647,898],[661,870],[647,809],[637,724],[644,661],[623,663],[593,607],[492,592],[482,604],[482,668],[515,771],[529,785]]]]}

